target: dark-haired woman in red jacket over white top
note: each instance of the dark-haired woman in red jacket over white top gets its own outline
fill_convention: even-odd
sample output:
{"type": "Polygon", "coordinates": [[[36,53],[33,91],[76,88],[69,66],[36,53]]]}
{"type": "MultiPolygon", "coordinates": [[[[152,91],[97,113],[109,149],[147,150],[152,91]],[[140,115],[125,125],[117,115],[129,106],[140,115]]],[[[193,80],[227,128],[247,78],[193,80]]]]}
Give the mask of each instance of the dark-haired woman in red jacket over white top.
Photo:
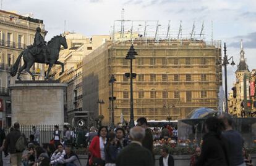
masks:
{"type": "Polygon", "coordinates": [[[89,151],[92,156],[89,159],[89,165],[105,165],[105,145],[107,142],[108,127],[101,126],[98,130],[98,136],[95,136],[90,144],[89,151]]]}

